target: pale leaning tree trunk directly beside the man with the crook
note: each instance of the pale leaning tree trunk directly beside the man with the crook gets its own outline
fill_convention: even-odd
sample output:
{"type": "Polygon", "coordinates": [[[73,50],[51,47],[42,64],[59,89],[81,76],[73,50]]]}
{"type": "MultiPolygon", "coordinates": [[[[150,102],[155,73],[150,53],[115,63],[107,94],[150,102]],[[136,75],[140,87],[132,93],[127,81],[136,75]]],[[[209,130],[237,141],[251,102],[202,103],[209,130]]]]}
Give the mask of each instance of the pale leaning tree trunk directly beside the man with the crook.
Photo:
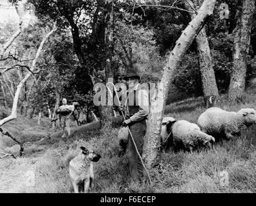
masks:
{"type": "Polygon", "coordinates": [[[213,14],[216,0],[205,0],[198,14],[189,23],[182,35],[176,41],[175,48],[170,53],[167,63],[163,69],[162,79],[155,89],[155,93],[150,96],[151,106],[149,120],[147,124],[147,133],[145,135],[143,158],[147,167],[151,167],[158,159],[158,151],[160,147],[160,131],[162,126],[162,118],[164,116],[165,102],[167,99],[169,85],[173,77],[173,71],[178,68],[182,57],[195,39],[198,29],[204,24],[206,17],[213,14]]]}

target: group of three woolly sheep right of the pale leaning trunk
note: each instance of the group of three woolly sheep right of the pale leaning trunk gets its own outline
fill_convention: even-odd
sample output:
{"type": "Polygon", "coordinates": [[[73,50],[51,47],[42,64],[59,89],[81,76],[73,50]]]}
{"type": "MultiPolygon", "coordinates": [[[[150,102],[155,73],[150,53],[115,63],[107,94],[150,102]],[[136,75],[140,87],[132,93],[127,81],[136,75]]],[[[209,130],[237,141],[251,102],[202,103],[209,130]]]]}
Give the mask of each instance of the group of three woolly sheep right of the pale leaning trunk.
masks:
{"type": "Polygon", "coordinates": [[[237,112],[209,108],[198,118],[197,124],[186,120],[165,117],[162,121],[161,141],[163,147],[193,151],[199,147],[211,147],[214,142],[231,140],[241,135],[243,128],[256,124],[255,109],[237,112]]]}

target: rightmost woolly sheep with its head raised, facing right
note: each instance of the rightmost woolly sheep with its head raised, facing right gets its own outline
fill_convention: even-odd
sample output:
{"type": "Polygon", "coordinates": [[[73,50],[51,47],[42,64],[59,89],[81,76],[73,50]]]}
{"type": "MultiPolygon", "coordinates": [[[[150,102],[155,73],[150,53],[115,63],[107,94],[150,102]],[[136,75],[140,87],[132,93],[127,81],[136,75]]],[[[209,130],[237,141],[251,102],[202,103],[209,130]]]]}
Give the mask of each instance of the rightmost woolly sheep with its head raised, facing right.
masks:
{"type": "Polygon", "coordinates": [[[225,111],[220,108],[209,108],[198,118],[197,124],[208,135],[217,141],[230,140],[241,135],[243,127],[256,123],[255,109],[246,108],[240,111],[225,111]]]}

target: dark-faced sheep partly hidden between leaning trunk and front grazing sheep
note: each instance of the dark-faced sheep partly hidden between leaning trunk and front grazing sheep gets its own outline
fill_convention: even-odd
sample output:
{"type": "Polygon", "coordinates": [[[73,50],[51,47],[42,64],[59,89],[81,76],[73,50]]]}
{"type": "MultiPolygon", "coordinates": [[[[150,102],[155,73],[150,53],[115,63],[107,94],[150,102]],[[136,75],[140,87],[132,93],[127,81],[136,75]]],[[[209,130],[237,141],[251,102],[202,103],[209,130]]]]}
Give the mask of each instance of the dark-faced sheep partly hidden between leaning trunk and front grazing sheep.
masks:
{"type": "Polygon", "coordinates": [[[171,136],[169,134],[171,133],[171,126],[173,125],[173,122],[176,122],[175,118],[173,117],[164,117],[162,120],[162,128],[161,128],[161,144],[165,149],[167,147],[171,146],[173,143],[173,140],[171,139],[171,136]]]}

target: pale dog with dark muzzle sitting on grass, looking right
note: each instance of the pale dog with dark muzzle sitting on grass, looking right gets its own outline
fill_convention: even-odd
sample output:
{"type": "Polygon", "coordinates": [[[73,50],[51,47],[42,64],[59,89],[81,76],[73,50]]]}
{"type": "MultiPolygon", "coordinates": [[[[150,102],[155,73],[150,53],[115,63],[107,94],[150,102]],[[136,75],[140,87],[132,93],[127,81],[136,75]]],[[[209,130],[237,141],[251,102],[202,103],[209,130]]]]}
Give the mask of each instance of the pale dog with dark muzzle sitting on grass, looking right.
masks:
{"type": "Polygon", "coordinates": [[[91,149],[80,147],[80,153],[69,162],[69,175],[74,192],[88,193],[93,187],[93,162],[98,162],[101,156],[91,149]]]}

